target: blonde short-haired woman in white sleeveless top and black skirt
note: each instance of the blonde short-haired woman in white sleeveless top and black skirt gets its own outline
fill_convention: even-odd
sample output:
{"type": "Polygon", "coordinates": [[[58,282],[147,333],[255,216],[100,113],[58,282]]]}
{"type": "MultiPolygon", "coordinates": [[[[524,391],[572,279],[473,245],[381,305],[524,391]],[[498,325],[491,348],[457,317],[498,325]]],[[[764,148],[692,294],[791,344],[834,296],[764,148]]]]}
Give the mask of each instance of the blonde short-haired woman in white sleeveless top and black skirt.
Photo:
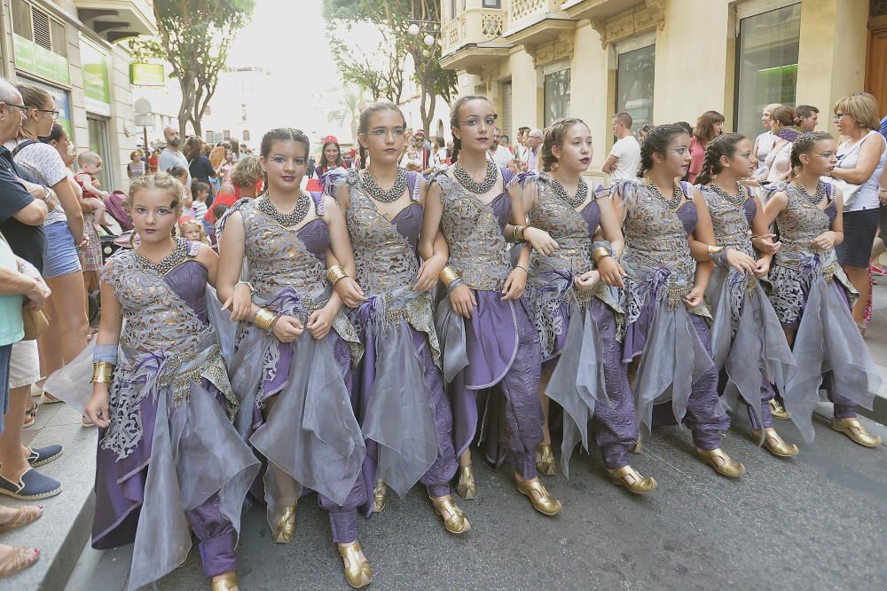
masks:
{"type": "Polygon", "coordinates": [[[832,177],[844,185],[844,242],[836,247],[838,263],[844,267],[860,299],[853,306],[853,319],[865,328],[863,314],[868,300],[868,260],[878,229],[878,181],[887,160],[884,138],[878,133],[878,105],[871,95],[852,94],[835,105],[835,122],[844,141],[837,147],[837,166],[832,177]]]}

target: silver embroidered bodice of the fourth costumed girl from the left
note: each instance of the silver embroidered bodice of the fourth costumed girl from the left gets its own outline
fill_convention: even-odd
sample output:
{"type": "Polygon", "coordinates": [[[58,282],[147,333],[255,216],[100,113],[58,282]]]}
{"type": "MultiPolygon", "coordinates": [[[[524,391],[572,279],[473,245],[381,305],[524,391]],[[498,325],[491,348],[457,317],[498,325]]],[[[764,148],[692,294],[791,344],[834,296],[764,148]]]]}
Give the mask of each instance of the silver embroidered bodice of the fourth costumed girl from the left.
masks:
{"type": "Polygon", "coordinates": [[[441,230],[450,246],[449,264],[469,288],[501,289],[511,264],[494,206],[496,200],[507,200],[507,193],[485,204],[446,174],[435,178],[441,188],[441,230]]]}

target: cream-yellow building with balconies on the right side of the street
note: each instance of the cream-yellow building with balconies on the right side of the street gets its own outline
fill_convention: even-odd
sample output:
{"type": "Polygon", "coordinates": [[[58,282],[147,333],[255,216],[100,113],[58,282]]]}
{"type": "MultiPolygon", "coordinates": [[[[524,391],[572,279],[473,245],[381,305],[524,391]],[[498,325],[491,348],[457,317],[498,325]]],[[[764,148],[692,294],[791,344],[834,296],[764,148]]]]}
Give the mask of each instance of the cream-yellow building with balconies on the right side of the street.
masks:
{"type": "Polygon", "coordinates": [[[592,173],[613,114],[693,124],[713,109],[752,138],[769,103],[820,108],[870,91],[887,113],[883,0],[442,0],[443,67],[459,94],[485,94],[502,127],[585,120],[592,173]]]}

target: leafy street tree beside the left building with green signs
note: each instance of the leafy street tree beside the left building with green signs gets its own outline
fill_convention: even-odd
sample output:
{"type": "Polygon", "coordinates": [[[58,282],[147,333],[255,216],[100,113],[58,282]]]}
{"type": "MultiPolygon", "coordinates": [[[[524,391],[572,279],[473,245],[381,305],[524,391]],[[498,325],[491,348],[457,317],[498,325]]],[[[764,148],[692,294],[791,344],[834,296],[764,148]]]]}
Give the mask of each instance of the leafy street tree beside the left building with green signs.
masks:
{"type": "Polygon", "coordinates": [[[179,133],[190,122],[202,135],[200,121],[216,94],[228,50],[237,32],[252,18],[255,0],[154,0],[158,40],[137,43],[137,51],[165,59],[182,89],[179,133]]]}

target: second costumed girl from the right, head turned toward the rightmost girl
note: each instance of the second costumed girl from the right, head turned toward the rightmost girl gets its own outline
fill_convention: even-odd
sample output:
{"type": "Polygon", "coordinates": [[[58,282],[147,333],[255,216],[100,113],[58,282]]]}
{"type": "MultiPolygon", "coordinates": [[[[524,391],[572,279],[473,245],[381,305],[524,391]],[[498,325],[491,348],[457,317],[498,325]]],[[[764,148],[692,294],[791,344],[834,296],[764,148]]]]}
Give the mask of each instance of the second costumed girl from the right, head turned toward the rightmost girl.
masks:
{"type": "Polygon", "coordinates": [[[698,260],[710,258],[715,263],[706,296],[714,317],[711,343],[720,372],[718,390],[730,408],[741,398],[752,434],[767,451],[788,458],[797,455],[797,445],[783,441],[773,428],[771,380],[789,371],[795,359],[759,282],[766,277],[779,245],[773,244],[768,233],[757,194],[740,183],[754,173],[751,148],[745,136],[727,133],[705,150],[696,180],[709,210],[715,243],[723,250],[709,254],[709,245],[698,241],[690,248],[698,260]],[[761,252],[757,259],[756,247],[761,252]]]}

